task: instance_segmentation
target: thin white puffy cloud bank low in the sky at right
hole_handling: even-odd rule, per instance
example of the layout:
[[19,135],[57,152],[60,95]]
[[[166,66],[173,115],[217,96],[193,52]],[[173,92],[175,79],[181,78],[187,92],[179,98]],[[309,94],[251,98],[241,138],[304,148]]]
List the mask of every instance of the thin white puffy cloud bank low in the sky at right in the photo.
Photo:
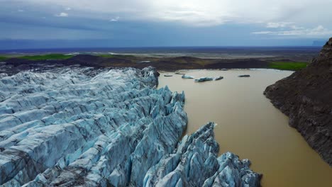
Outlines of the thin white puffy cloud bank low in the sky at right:
[[323,26],[317,26],[315,28],[304,28],[291,26],[288,30],[267,30],[253,32],[255,35],[280,35],[280,36],[293,36],[293,37],[329,37],[332,35],[332,30],[328,30]]

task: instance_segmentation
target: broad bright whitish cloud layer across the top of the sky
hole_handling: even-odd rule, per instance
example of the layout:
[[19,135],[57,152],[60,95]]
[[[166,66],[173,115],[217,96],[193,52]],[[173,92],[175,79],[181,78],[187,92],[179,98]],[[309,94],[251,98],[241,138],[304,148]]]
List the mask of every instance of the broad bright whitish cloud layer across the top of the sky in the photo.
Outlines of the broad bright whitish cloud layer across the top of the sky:
[[[332,1],[327,0],[13,0],[37,6],[70,7],[82,16],[126,15],[126,20],[175,22],[190,26],[223,23],[267,23],[282,28],[287,22],[328,25]],[[131,5],[131,6],[128,6]],[[323,13],[321,13],[323,12]],[[278,24],[276,24],[278,23]]]

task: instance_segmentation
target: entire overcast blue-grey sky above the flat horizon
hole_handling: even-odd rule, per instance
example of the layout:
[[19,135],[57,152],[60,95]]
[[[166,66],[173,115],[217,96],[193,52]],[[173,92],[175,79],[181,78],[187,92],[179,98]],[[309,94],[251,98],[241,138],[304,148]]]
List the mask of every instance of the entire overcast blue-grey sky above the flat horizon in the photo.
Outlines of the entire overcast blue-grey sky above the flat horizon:
[[0,0],[0,49],[311,45],[331,0]]

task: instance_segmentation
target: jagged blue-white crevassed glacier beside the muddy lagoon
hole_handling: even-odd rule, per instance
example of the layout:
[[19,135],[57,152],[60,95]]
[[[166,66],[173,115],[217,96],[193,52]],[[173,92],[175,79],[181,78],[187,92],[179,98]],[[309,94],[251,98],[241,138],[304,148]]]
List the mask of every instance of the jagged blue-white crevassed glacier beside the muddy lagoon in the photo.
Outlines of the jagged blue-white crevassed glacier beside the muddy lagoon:
[[0,75],[1,186],[260,186],[214,123],[184,135],[184,93],[153,67]]

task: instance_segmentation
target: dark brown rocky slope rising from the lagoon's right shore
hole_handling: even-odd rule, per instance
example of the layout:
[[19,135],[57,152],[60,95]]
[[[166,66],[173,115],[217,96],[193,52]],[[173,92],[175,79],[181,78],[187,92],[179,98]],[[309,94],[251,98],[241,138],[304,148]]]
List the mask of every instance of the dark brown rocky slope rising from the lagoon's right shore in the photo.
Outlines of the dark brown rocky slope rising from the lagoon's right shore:
[[332,38],[308,67],[268,86],[264,94],[332,166]]

